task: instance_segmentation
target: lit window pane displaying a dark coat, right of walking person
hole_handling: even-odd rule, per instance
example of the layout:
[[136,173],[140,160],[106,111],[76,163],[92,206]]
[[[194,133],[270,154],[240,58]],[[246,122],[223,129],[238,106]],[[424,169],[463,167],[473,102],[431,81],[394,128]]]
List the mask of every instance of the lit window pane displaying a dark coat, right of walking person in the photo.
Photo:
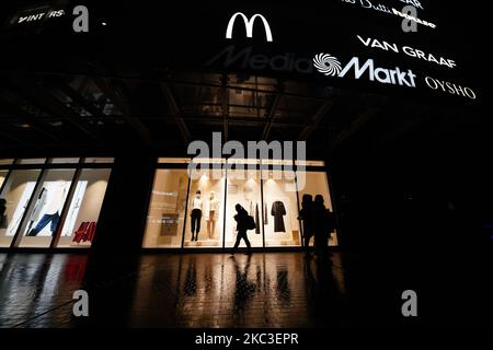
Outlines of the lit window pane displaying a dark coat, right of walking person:
[[300,246],[298,201],[291,171],[263,170],[265,246]]

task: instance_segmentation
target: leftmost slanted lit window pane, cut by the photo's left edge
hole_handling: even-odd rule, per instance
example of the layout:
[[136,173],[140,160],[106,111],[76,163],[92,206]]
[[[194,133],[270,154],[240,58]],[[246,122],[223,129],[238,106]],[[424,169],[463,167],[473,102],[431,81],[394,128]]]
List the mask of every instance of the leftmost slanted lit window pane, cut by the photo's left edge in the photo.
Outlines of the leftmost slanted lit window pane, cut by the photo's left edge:
[[33,195],[39,170],[12,171],[3,186],[4,214],[0,224],[0,247],[9,247],[18,232],[24,212]]

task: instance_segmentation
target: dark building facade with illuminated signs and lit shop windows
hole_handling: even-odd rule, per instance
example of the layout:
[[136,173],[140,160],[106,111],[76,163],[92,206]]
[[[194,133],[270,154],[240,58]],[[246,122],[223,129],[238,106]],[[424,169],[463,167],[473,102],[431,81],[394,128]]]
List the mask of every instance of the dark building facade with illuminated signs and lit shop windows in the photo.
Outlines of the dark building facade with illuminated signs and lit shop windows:
[[415,282],[429,305],[445,293],[446,315],[451,295],[477,293],[450,267],[483,281],[492,262],[478,12],[1,3],[0,249],[87,253],[104,261],[88,269],[98,281],[142,253],[225,252],[241,203],[255,250],[300,250],[302,196],[321,195],[329,245],[357,255],[359,276]]

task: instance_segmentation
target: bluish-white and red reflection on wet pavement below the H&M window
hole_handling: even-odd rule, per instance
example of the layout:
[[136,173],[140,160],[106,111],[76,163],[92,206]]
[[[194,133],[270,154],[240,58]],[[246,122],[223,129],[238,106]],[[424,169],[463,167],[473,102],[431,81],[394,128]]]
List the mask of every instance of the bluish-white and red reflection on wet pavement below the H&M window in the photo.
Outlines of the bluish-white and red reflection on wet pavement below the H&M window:
[[0,255],[0,327],[70,327],[84,255]]

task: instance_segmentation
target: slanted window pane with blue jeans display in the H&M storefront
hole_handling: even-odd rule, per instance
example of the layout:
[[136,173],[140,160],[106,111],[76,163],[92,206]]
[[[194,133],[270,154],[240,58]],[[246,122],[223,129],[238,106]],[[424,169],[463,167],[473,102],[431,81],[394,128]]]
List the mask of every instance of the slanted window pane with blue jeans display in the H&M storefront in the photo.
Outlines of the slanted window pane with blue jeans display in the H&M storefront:
[[21,247],[49,247],[76,170],[46,171],[21,226]]

